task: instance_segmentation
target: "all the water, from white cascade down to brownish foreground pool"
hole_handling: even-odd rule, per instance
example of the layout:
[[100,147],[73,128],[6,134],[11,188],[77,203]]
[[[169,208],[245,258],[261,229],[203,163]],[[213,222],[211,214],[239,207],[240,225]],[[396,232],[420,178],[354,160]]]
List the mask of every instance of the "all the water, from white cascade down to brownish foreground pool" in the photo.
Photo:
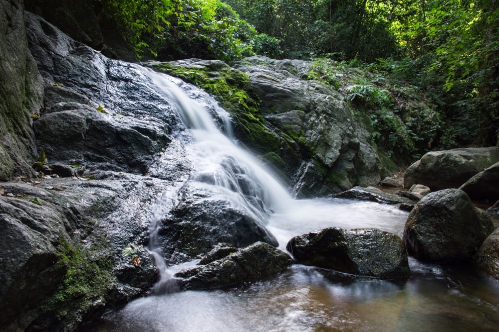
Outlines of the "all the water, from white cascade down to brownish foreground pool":
[[[293,200],[257,158],[235,143],[227,112],[216,103],[197,103],[191,97],[201,92],[181,81],[146,73],[175,102],[192,133],[188,150],[196,170],[187,181],[233,195],[249,213],[267,223],[280,249],[285,250],[292,236],[329,226],[373,227],[401,236],[408,214],[392,206],[338,199]],[[231,167],[227,167],[228,160]],[[158,223],[175,205],[182,185],[163,194],[151,224],[149,249],[162,273],[158,284],[197,263],[167,267],[157,250]],[[235,288],[149,295],[106,315],[88,330],[497,331],[497,281],[471,266],[422,264],[410,258],[410,267],[408,280],[384,281],[294,265],[274,278]]]

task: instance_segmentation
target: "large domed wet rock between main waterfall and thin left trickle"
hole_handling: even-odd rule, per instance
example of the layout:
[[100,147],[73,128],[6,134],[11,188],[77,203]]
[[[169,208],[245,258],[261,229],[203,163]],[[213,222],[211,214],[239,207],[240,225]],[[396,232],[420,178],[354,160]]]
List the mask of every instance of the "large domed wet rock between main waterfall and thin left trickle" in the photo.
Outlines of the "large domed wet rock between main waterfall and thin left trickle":
[[239,202],[234,192],[188,184],[179,204],[161,222],[159,237],[166,261],[178,264],[196,259],[219,242],[244,247],[263,241],[277,246],[260,213]]

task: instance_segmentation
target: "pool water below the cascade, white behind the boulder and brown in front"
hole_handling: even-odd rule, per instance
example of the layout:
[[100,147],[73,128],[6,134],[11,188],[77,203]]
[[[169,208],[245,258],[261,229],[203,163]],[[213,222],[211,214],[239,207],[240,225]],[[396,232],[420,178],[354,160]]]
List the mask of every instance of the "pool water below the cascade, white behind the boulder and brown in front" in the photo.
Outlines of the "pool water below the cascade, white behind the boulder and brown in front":
[[[387,205],[299,202],[296,209],[269,221],[281,248],[292,233],[327,226],[375,227],[400,235],[407,218],[407,213]],[[87,331],[499,330],[498,281],[471,265],[423,264],[411,258],[410,267],[409,279],[394,282],[294,265],[275,278],[237,288],[144,297]]]

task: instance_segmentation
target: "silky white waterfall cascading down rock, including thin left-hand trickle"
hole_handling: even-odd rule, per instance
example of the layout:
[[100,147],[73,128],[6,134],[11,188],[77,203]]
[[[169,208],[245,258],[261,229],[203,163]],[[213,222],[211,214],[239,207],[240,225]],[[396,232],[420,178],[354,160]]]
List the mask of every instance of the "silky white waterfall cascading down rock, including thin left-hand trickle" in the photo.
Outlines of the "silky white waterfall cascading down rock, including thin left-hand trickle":
[[[156,85],[158,92],[172,102],[192,134],[193,142],[186,148],[195,172],[186,182],[212,186],[218,194],[241,203],[259,220],[266,221],[271,213],[282,212],[290,206],[292,199],[282,185],[257,158],[237,145],[229,114],[213,98],[179,79],[147,68],[140,70]],[[183,185],[185,182],[162,195],[150,226],[149,250],[161,273],[156,287],[162,287],[162,291],[171,276],[165,272],[157,234],[160,221],[175,207]]]

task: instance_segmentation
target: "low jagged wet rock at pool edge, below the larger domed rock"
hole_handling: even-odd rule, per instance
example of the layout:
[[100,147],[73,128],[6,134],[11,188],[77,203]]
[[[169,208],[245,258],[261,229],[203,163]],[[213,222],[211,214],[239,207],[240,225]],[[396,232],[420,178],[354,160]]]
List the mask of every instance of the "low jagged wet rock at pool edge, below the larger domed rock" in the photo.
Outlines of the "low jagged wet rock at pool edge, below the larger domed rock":
[[183,270],[175,275],[183,290],[213,289],[261,280],[293,263],[285,252],[268,243],[256,242],[207,265]]

